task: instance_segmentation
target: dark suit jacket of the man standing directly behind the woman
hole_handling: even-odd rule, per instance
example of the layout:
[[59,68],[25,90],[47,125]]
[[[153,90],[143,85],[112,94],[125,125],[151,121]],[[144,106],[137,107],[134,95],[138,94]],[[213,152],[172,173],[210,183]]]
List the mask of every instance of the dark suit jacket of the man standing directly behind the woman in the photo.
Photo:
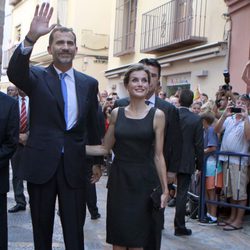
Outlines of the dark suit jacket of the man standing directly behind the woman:
[[[115,107],[124,107],[129,104],[129,98],[116,100]],[[176,172],[181,159],[181,131],[178,110],[170,103],[156,97],[155,107],[165,114],[165,140],[163,154],[169,172]]]

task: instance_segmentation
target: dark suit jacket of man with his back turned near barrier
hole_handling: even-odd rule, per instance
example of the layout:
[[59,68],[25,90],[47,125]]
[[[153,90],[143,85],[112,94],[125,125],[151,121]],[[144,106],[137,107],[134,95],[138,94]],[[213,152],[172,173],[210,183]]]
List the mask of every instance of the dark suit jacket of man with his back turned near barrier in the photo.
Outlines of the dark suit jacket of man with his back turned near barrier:
[[203,126],[201,118],[189,111],[188,108],[180,108],[180,125],[182,132],[182,155],[178,173],[193,174],[195,168],[203,166]]

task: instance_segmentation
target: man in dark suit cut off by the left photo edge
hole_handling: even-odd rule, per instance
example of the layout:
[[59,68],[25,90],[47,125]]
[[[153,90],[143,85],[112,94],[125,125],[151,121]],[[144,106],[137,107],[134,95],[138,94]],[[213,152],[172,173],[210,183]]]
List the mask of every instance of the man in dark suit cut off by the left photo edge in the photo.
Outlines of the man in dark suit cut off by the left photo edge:
[[8,249],[7,192],[9,191],[9,160],[18,143],[18,103],[0,92],[0,249]]

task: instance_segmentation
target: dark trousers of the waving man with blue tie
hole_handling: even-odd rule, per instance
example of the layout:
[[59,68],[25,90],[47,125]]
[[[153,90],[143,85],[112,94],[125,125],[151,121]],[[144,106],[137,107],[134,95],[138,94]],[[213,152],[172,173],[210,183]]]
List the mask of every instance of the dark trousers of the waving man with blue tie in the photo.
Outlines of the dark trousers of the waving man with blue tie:
[[27,183],[35,250],[52,250],[55,203],[58,197],[66,250],[84,250],[85,189],[71,188],[65,179],[63,157],[45,184]]

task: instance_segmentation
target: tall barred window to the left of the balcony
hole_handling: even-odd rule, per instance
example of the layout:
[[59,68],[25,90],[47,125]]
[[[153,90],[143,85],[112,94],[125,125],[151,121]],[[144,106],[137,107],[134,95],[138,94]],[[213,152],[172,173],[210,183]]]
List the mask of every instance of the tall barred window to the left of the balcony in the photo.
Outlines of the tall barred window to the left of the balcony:
[[114,56],[134,52],[137,0],[117,0]]

